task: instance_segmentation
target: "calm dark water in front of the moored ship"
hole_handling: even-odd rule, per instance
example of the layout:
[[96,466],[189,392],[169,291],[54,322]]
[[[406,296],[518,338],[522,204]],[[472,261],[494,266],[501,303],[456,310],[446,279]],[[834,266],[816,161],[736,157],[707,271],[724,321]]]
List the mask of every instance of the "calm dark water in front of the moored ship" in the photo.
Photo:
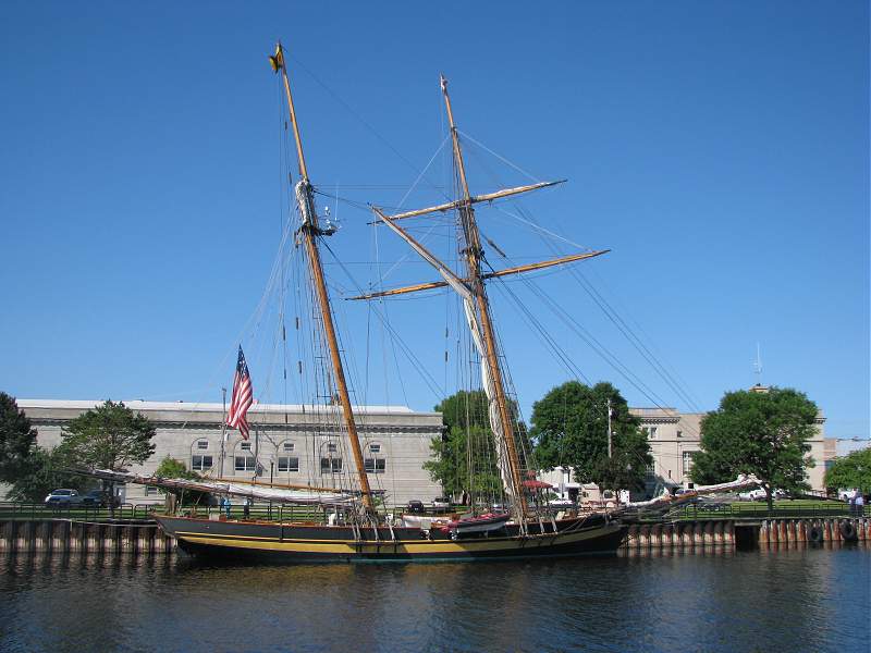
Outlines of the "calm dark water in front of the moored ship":
[[212,567],[0,557],[2,651],[871,650],[871,550]]

